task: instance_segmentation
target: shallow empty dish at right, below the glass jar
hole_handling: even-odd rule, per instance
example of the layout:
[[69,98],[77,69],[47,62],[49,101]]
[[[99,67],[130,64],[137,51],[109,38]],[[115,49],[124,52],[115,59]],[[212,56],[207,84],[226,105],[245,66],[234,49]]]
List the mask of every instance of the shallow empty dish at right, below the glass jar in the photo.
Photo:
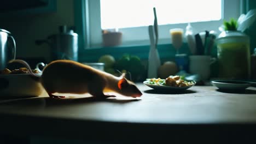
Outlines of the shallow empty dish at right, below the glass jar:
[[241,90],[251,86],[251,83],[246,81],[235,81],[235,80],[214,80],[212,81],[212,85],[219,89]]

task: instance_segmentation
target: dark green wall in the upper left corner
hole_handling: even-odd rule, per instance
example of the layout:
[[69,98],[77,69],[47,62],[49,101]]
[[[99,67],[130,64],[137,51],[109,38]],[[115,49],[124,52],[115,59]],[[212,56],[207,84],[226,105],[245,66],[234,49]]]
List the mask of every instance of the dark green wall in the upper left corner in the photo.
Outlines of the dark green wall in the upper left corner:
[[50,47],[38,46],[34,41],[59,33],[61,25],[74,26],[73,3],[73,0],[56,0],[56,10],[50,13],[0,14],[0,28],[10,31],[16,40],[17,57],[43,57],[49,61]]

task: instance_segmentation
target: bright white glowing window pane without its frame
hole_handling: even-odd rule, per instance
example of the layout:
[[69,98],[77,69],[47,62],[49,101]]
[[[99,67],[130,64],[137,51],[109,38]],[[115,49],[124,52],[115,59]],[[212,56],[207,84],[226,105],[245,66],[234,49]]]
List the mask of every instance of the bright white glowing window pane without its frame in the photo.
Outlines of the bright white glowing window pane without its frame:
[[101,28],[153,25],[156,8],[159,25],[218,21],[222,0],[101,0]]

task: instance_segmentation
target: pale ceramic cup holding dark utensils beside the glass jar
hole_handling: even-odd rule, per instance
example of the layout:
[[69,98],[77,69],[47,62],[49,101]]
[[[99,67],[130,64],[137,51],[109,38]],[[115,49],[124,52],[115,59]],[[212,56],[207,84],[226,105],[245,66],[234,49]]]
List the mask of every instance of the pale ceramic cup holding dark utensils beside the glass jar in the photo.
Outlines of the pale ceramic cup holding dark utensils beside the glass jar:
[[210,66],[216,61],[216,58],[211,56],[189,56],[189,72],[191,74],[198,74],[202,80],[210,78]]

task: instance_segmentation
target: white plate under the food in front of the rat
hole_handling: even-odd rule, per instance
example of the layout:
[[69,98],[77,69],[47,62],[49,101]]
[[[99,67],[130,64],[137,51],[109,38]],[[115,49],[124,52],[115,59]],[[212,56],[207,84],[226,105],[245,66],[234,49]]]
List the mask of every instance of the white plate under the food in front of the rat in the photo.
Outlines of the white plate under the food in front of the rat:
[[147,83],[147,81],[144,81],[143,83],[144,83],[144,85],[146,85],[148,87],[151,87],[153,89],[168,90],[168,91],[182,91],[182,90],[188,89],[188,88],[190,88],[190,87],[195,85],[195,82],[194,82],[194,85],[189,85],[189,86],[185,86],[185,87],[172,87],[172,86],[152,85],[152,84]]

